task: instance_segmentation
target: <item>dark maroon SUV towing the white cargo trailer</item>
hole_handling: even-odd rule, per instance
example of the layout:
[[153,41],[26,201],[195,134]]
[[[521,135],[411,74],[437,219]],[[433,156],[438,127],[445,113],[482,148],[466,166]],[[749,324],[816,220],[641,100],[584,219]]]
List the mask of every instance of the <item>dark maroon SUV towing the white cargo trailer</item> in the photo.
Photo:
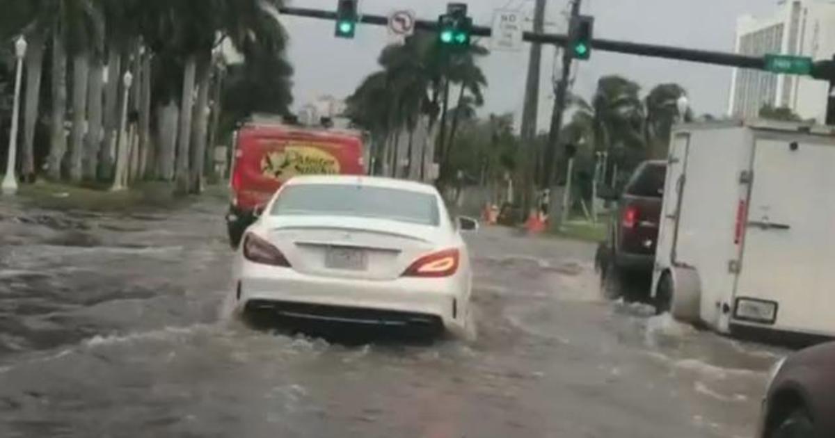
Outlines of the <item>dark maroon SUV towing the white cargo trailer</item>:
[[601,198],[617,203],[596,256],[600,279],[610,298],[620,295],[626,275],[651,278],[665,177],[665,161],[645,161],[622,193],[601,194]]

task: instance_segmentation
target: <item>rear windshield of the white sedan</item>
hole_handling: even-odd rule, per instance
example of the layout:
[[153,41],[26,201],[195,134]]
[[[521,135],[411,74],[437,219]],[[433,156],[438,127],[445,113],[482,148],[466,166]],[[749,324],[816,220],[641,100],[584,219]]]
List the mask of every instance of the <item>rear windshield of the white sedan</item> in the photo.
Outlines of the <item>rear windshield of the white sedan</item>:
[[281,191],[271,214],[389,219],[438,226],[433,194],[356,184],[301,184]]

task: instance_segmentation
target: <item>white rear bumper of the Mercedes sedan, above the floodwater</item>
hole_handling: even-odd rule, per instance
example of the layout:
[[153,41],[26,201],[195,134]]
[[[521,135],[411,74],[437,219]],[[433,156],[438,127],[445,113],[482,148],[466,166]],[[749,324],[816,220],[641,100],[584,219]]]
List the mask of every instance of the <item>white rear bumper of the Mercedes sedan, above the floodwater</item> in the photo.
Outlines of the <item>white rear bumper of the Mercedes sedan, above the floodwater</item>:
[[[277,268],[241,262],[240,298],[237,308],[283,306],[289,313],[304,318],[321,315],[357,323],[380,320],[438,320],[447,329],[463,327],[468,310],[468,291],[455,277],[448,279],[394,280],[340,279],[301,274],[289,268]],[[388,312],[384,315],[381,312]],[[291,315],[292,316],[292,315]]]

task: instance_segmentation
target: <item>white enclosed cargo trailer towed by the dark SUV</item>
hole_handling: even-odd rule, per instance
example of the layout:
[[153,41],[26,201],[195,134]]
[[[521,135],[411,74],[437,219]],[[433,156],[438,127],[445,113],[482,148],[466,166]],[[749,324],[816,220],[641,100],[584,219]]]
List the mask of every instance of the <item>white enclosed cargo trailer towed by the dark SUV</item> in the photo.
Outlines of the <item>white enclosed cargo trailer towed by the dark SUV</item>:
[[835,130],[684,124],[668,162],[660,308],[722,333],[835,335]]

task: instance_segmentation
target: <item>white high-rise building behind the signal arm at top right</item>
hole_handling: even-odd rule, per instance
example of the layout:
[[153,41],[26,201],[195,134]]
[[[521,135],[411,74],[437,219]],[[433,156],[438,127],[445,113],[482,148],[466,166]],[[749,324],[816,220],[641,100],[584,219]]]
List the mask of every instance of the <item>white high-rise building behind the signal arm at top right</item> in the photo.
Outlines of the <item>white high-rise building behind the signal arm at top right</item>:
[[[771,17],[738,18],[736,53],[831,59],[835,55],[835,1],[782,0]],[[814,118],[822,123],[826,118],[828,93],[829,84],[825,81],[735,68],[728,114],[756,118],[760,108],[768,105],[791,108],[802,118]]]

